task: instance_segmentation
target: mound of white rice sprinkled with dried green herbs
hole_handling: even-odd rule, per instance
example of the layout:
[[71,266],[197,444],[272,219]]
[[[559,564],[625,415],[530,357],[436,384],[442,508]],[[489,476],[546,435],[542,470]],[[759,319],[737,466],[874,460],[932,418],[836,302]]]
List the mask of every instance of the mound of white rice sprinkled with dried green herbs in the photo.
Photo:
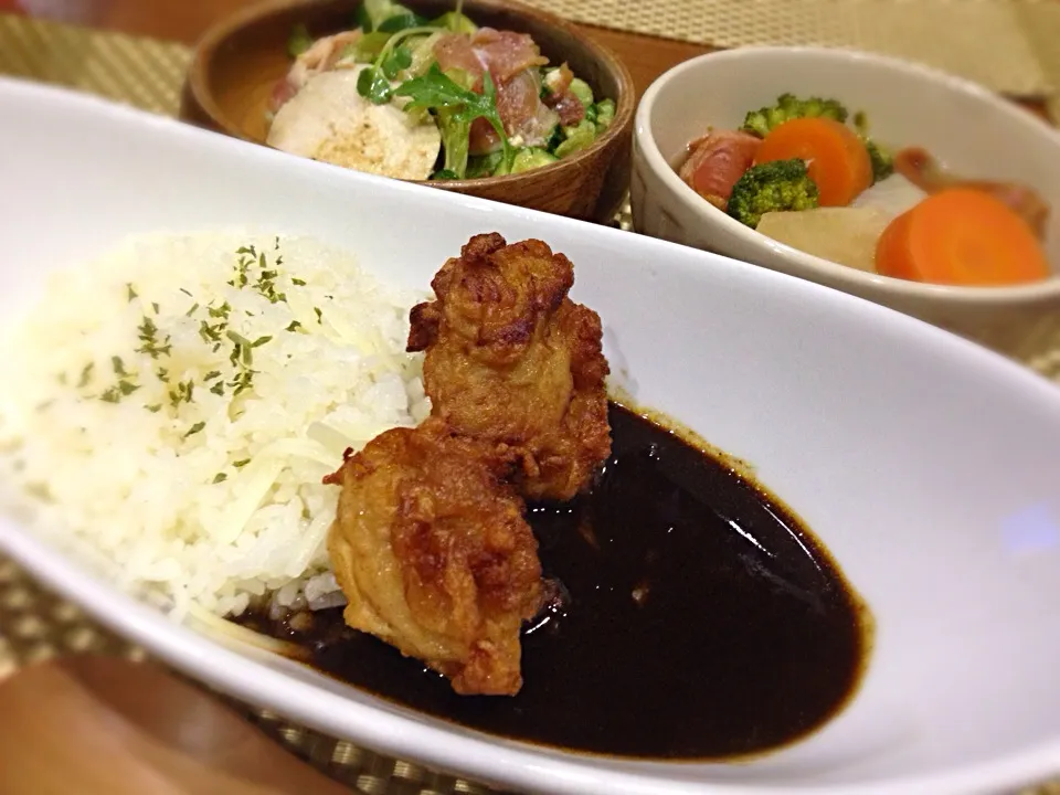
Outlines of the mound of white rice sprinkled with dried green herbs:
[[417,298],[309,240],[130,240],[4,329],[0,478],[178,616],[272,591],[341,602],[324,545],[338,488],[321,478],[428,412],[404,352]]

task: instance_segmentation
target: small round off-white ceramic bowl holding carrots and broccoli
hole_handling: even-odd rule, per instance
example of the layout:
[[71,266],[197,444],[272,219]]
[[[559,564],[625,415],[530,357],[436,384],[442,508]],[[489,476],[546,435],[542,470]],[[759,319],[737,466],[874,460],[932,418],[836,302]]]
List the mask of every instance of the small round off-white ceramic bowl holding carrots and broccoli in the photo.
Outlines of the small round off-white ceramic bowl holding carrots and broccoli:
[[736,128],[780,94],[865,110],[872,136],[922,146],[955,172],[1032,186],[1053,208],[1060,269],[1060,132],[985,88],[892,59],[842,50],[749,47],[687,61],[645,93],[634,128],[633,218],[640,232],[828,285],[979,339],[1060,309],[1060,277],[1018,287],[948,287],[867,274],[777,243],[711,206],[672,166],[709,127]]

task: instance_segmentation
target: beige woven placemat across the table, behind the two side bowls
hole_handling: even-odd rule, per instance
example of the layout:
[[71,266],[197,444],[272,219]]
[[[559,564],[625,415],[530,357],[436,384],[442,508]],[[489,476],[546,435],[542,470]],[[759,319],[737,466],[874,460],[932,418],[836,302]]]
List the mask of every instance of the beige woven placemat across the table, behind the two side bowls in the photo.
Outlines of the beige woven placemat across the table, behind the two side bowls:
[[718,47],[818,44],[919,61],[1017,96],[1049,96],[1060,28],[1031,41],[1018,7],[1057,0],[528,0],[585,24]]

